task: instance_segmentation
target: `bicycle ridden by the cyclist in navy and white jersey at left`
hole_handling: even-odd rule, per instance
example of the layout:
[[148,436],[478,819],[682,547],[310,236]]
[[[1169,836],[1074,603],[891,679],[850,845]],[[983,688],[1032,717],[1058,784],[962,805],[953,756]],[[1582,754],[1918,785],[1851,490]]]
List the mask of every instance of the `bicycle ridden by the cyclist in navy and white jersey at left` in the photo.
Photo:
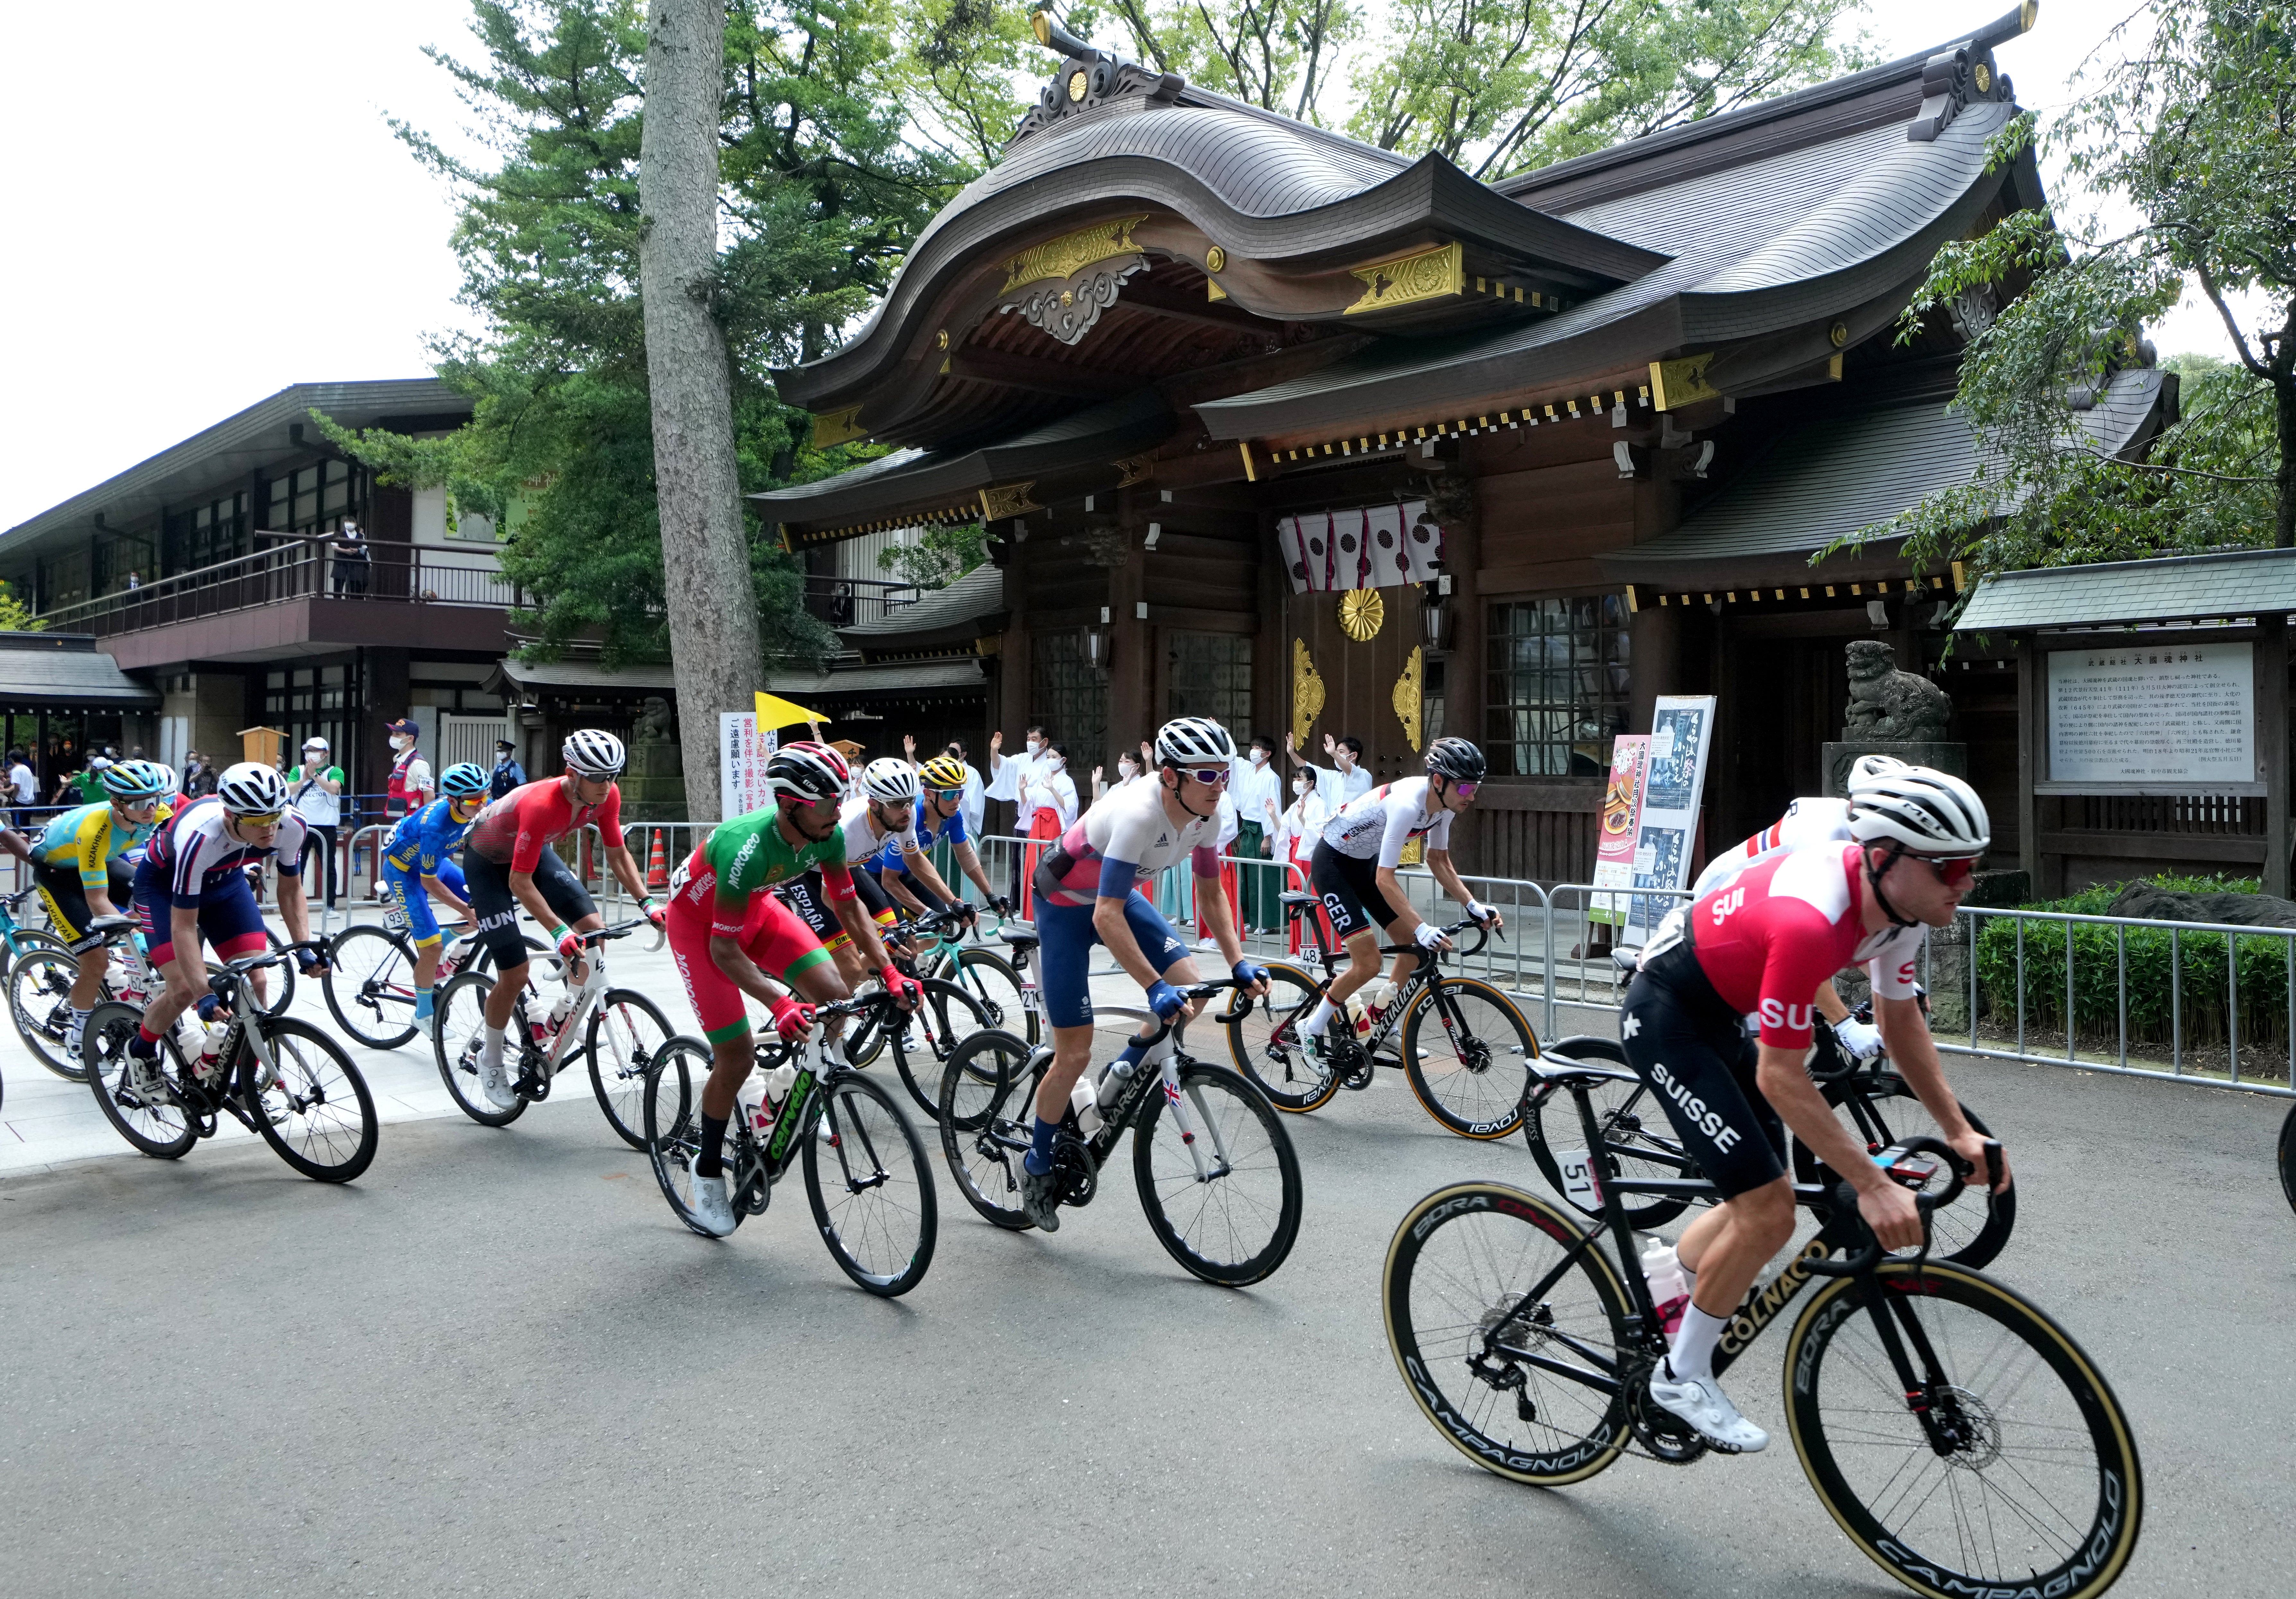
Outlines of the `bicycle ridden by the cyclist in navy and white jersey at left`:
[[[124,937],[129,924],[119,919],[108,933]],[[232,1117],[315,1181],[349,1183],[367,1169],[381,1130],[367,1080],[340,1043],[305,1020],[271,1015],[255,992],[255,972],[305,949],[326,956],[326,942],[310,940],[241,956],[207,979],[214,1020],[227,1022],[211,1052],[204,1029],[174,1027],[156,1061],[138,1061],[129,1041],[142,1006],[113,999],[90,1011],[80,1041],[87,1087],[119,1137],[177,1160]]]

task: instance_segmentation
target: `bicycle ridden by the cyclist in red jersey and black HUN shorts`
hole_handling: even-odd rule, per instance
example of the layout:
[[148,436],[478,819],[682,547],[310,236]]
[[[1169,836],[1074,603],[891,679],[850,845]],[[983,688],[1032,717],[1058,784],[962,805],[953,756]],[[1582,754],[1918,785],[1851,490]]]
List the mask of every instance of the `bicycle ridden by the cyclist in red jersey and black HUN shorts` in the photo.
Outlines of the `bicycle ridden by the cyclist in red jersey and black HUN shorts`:
[[[519,1096],[510,1110],[496,1110],[487,1091],[478,1087],[478,1052],[487,1045],[487,995],[494,992],[494,972],[457,972],[434,1002],[432,1055],[439,1059],[439,1077],[461,1114],[482,1128],[507,1128],[526,1114],[528,1105],[540,1105],[551,1096],[551,1084],[567,1057],[574,1055],[574,1043],[581,1041],[583,1061],[590,1066],[590,1091],[597,1094],[597,1107],[606,1112],[606,1126],[631,1149],[645,1149],[645,1112],[638,1100],[645,1089],[645,1068],[670,1038],[670,1020],[636,988],[606,988],[606,951],[602,947],[650,926],[645,917],[634,917],[611,928],[581,933],[590,970],[581,983],[567,986],[556,1004],[542,999],[537,965],[546,960],[558,981],[567,983],[565,963],[558,956],[526,963],[526,988],[512,1009],[503,1048],[503,1066]],[[657,935],[654,949],[659,947]]]

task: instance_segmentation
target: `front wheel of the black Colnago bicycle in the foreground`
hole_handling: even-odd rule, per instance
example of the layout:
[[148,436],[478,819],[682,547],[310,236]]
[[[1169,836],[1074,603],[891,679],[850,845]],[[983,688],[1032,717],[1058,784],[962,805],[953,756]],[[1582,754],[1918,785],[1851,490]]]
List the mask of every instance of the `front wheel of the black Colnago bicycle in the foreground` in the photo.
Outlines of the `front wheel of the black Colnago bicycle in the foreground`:
[[1917,1594],[2099,1594],[2144,1512],[2112,1388],[2046,1314],[1961,1266],[1828,1282],[1786,1339],[1786,1422],[1841,1530]]

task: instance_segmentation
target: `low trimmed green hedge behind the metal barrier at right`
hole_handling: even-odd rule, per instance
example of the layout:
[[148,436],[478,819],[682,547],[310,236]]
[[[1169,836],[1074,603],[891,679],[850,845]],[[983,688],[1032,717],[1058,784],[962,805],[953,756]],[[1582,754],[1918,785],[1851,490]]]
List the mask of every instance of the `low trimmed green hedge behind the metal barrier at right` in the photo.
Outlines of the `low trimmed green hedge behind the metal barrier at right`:
[[[2255,878],[2151,878],[2163,889],[2186,894],[2257,894]],[[2122,885],[2108,885],[2060,901],[2034,901],[2018,910],[2069,910],[2089,917],[2110,914]],[[2025,928],[2025,1025],[2043,1032],[2064,1029],[2064,926],[1981,919],[1977,935],[1977,983],[1991,1015],[2016,1022],[2016,937]],[[2073,1025],[2082,1038],[2110,1043],[2119,1034],[2119,953],[2126,935],[2128,958],[2128,1041],[2167,1045],[2172,1036],[2170,933],[2167,928],[2112,928],[2073,924]],[[2181,972],[2186,1048],[2223,1048],[2225,1018],[2225,937],[2223,933],[2179,933],[2174,940]],[[2239,1006],[2241,1048],[2273,1048],[2287,1055],[2289,1027],[2289,940],[2287,935],[2239,937]]]

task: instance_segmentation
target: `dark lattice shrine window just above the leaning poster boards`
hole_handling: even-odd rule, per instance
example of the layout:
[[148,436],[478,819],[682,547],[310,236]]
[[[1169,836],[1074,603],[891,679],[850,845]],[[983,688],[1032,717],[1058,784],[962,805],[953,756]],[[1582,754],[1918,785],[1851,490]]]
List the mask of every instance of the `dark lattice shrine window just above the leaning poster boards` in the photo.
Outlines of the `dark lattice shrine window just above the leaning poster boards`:
[[1490,607],[1483,754],[1492,777],[1603,777],[1626,731],[1621,595]]

